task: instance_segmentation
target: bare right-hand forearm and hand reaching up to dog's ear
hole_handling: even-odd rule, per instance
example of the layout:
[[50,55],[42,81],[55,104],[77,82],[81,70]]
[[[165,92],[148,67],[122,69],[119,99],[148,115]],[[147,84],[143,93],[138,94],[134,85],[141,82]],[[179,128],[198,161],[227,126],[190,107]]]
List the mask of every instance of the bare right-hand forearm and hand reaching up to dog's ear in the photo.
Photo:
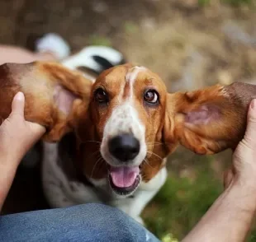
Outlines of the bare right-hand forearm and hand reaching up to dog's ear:
[[183,242],[246,240],[256,212],[256,100],[249,106],[244,139],[225,174],[225,191]]

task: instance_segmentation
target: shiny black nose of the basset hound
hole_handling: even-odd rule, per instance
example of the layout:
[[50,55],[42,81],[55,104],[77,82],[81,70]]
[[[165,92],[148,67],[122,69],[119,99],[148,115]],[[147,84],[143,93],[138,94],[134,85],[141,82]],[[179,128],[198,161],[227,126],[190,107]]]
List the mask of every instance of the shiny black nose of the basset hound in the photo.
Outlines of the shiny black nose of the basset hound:
[[132,134],[121,134],[110,139],[108,149],[119,161],[130,161],[139,154],[140,142]]

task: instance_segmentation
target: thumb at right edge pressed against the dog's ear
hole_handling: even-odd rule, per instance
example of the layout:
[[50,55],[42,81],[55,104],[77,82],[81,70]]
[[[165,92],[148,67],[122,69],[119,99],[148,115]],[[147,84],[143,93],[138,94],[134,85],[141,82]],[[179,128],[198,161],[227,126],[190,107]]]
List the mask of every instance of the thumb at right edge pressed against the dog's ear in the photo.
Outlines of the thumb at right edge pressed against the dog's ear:
[[249,105],[244,142],[249,148],[256,147],[256,99],[252,100]]

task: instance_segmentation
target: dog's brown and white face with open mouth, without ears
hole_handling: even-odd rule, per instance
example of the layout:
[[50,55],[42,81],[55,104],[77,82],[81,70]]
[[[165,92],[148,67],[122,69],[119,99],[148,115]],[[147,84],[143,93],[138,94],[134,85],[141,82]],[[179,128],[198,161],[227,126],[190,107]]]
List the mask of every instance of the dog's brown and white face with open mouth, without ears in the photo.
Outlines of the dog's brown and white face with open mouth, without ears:
[[116,193],[137,188],[150,156],[159,160],[157,166],[163,162],[153,148],[161,139],[166,95],[156,74],[129,64],[104,72],[93,85],[90,112]]

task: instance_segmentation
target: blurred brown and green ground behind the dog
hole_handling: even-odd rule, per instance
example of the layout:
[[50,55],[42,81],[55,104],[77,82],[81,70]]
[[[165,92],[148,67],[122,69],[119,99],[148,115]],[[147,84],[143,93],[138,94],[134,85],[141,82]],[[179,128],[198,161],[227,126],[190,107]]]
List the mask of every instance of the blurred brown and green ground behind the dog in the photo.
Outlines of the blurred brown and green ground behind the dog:
[[[2,0],[1,43],[26,47],[31,36],[56,32],[73,51],[112,46],[159,73],[168,91],[256,84],[255,7],[254,0]],[[182,239],[221,193],[230,158],[230,151],[196,156],[179,148],[145,209],[149,230],[163,241]]]

